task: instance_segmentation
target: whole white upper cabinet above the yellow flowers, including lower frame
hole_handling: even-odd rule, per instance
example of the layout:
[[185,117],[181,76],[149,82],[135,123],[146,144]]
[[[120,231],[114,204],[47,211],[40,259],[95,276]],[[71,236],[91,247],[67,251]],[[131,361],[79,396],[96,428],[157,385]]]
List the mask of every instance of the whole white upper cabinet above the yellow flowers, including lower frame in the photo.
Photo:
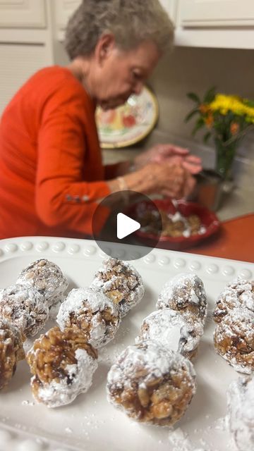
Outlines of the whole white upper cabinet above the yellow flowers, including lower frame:
[[176,45],[254,49],[253,0],[178,0]]

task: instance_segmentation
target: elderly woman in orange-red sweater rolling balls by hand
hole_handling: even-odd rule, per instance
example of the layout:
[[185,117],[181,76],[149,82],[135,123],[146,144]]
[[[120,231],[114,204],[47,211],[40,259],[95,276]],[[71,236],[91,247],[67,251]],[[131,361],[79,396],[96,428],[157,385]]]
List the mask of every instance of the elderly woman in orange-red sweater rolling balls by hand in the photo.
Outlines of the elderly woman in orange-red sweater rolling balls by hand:
[[1,238],[92,235],[98,202],[119,190],[188,194],[200,161],[186,149],[162,145],[103,166],[95,125],[97,105],[141,92],[172,39],[157,0],[83,1],[67,27],[70,65],[33,75],[1,118]]

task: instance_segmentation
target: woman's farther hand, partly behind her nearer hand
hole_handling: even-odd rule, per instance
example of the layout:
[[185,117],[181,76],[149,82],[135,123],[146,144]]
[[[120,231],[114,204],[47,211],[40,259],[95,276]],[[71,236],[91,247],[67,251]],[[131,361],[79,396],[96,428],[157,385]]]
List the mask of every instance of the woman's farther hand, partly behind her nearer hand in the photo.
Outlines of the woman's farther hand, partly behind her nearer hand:
[[133,163],[136,169],[142,168],[147,163],[181,164],[191,174],[197,174],[202,170],[201,159],[191,155],[188,149],[174,146],[174,144],[157,144],[151,149],[135,157]]

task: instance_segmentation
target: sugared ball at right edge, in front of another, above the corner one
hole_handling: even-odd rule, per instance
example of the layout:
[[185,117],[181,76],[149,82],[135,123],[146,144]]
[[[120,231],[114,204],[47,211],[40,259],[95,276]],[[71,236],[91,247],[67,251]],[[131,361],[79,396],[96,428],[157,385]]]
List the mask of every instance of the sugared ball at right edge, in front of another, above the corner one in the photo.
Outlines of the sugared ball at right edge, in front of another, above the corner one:
[[226,315],[214,331],[214,347],[236,371],[254,371],[254,314],[240,307]]

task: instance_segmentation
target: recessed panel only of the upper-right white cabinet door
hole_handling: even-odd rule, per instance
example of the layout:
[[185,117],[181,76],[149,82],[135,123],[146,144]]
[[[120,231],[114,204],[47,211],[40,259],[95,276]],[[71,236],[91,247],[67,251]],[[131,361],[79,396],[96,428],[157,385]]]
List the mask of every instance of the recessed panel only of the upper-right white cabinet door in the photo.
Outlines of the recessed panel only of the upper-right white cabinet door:
[[180,0],[183,27],[254,25],[253,0]]

